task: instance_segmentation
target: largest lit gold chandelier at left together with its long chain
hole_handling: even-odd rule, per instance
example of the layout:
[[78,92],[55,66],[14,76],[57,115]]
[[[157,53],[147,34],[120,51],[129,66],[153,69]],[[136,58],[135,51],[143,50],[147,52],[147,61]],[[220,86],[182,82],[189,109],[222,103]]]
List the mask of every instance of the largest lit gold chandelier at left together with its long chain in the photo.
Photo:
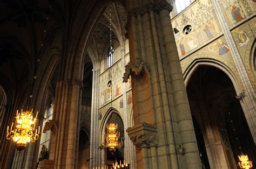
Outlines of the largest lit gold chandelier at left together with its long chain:
[[[40,126],[38,126],[38,131],[36,129],[36,123],[38,121],[37,114],[36,117],[33,118],[33,109],[30,107],[30,103],[32,100],[32,91],[33,87],[35,85],[35,80],[37,79],[37,68],[40,62],[40,56],[41,56],[41,51],[43,47],[43,40],[44,36],[46,34],[45,27],[47,24],[47,21],[49,20],[49,11],[51,8],[51,1],[49,2],[48,6],[48,12],[46,16],[46,22],[44,23],[44,30],[43,30],[43,36],[42,36],[42,41],[41,45],[39,47],[39,52],[37,55],[37,59],[35,58],[35,69],[33,71],[33,80],[32,80],[32,85],[30,86],[30,95],[28,98],[28,107],[26,108],[26,111],[21,110],[21,112],[16,113],[16,122],[11,124],[11,128],[9,129],[9,125],[7,126],[7,131],[6,131],[6,138],[9,140],[14,140],[15,142],[15,147],[18,151],[22,151],[26,148],[26,145],[28,143],[33,143],[39,138],[40,134]],[[15,125],[15,126],[14,126]],[[12,127],[14,126],[14,129]]]

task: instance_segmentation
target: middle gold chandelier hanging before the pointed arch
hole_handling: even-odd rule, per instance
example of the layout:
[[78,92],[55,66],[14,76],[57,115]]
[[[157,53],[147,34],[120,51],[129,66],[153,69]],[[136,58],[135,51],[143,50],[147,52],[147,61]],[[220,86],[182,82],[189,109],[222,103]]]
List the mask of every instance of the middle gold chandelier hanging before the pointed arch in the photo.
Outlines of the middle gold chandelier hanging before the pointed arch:
[[112,153],[116,151],[116,148],[123,146],[123,142],[118,142],[120,138],[120,132],[117,131],[118,125],[110,123],[106,125],[107,133],[105,133],[104,138],[106,140],[106,145],[102,144],[104,149],[108,148]]

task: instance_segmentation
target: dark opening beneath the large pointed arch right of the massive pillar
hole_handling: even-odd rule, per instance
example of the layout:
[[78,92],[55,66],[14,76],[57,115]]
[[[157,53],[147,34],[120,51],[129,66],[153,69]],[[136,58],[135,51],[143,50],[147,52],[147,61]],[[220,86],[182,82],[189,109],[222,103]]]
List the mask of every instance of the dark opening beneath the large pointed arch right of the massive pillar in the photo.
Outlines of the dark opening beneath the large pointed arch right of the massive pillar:
[[[242,129],[234,130],[231,128],[231,120],[226,116],[229,112],[235,112],[235,116],[242,116],[243,124],[247,125],[244,112],[242,112],[239,100],[231,79],[220,69],[213,66],[198,66],[190,76],[187,83],[187,94],[190,102],[192,116],[196,117],[204,137],[207,157],[211,168],[236,168],[237,158],[242,151],[235,149],[235,139],[232,133],[239,131],[238,135],[245,137]],[[241,111],[229,107],[231,100],[238,104]],[[233,119],[233,123],[234,123]],[[248,141],[244,146],[244,152],[250,152],[248,148],[254,148],[253,138],[248,126],[241,125],[244,130],[248,130],[246,138]],[[232,130],[231,130],[232,129]],[[241,139],[241,138],[240,138]],[[202,143],[201,143],[202,144]],[[242,146],[242,145],[240,145]],[[255,150],[253,150],[255,151]],[[250,153],[251,159],[255,157]]]

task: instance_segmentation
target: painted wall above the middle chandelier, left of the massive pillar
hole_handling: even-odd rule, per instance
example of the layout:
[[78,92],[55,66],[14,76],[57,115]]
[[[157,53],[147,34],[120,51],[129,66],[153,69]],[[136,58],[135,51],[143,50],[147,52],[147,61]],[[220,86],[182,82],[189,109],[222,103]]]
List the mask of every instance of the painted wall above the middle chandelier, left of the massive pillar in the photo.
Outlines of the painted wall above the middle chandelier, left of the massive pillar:
[[[128,43],[126,41],[126,43]],[[132,93],[131,93],[131,78],[127,83],[123,83],[123,68],[130,61],[130,55],[127,53],[124,59],[119,59],[111,68],[107,69],[99,75],[99,110],[98,110],[98,126],[104,123],[106,112],[112,107],[118,111],[118,114],[125,119],[124,112],[127,112],[127,120],[130,125],[130,117],[132,110]],[[111,87],[112,84],[112,87]],[[126,89],[124,93],[123,86]],[[112,103],[111,103],[111,88],[112,88]],[[126,95],[126,100],[124,95]]]

